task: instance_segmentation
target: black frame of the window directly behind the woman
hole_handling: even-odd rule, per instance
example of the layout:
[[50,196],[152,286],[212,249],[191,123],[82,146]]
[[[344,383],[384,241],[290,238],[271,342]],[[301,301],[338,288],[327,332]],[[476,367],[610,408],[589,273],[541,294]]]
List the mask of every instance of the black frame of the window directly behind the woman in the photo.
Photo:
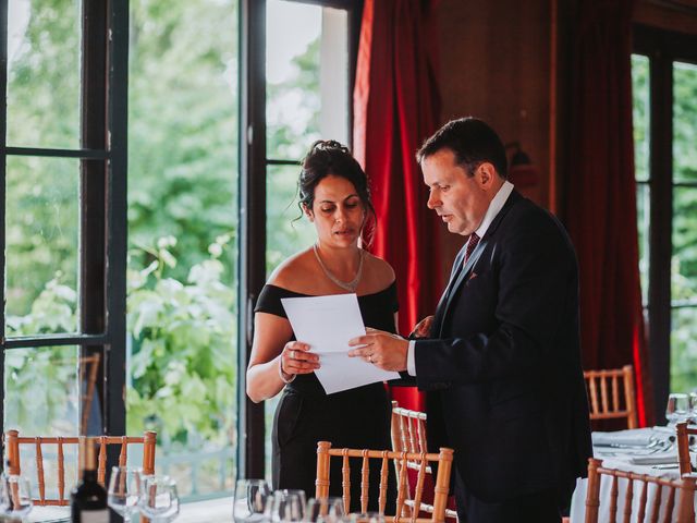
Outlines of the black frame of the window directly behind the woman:
[[[353,99],[363,1],[284,0],[347,11],[348,100]],[[240,257],[237,339],[237,477],[265,476],[265,408],[246,394],[246,368],[254,338],[254,305],[266,282],[266,173],[271,165],[297,165],[267,157],[266,0],[240,0]],[[348,108],[348,125],[353,111]]]

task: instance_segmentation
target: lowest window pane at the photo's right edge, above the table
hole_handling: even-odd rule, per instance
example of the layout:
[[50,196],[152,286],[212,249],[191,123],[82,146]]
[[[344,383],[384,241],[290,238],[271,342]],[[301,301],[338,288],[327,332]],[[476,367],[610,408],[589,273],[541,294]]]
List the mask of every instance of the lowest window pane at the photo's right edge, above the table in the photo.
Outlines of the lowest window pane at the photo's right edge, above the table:
[[671,391],[697,388],[697,307],[674,308],[671,325]]

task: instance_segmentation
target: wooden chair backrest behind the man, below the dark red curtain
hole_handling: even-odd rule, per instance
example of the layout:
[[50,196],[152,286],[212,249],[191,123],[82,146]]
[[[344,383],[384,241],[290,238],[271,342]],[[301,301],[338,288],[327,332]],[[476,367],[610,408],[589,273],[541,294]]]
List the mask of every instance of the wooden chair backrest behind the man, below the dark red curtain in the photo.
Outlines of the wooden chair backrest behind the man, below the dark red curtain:
[[636,428],[636,402],[634,394],[634,369],[622,368],[584,370],[590,419],[626,418],[627,428]]

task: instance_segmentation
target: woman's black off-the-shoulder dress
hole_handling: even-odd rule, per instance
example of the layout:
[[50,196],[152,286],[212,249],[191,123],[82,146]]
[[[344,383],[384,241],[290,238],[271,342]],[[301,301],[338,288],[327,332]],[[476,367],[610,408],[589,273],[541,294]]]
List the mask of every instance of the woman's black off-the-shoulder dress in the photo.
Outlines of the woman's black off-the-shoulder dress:
[[[255,312],[286,317],[282,297],[306,296],[267,284],[259,294]],[[366,327],[394,332],[398,311],[396,284],[358,296]],[[371,384],[333,394],[325,393],[315,374],[301,374],[283,389],[273,418],[273,488],[302,488],[315,497],[317,441],[333,448],[390,449],[391,403],[383,384]],[[380,460],[371,460],[370,510],[377,510]],[[375,466],[372,466],[375,465]],[[360,459],[351,462],[352,512],[359,510]],[[341,496],[341,459],[332,459],[330,496]],[[393,467],[388,508],[394,502]],[[375,501],[375,504],[374,504]]]

